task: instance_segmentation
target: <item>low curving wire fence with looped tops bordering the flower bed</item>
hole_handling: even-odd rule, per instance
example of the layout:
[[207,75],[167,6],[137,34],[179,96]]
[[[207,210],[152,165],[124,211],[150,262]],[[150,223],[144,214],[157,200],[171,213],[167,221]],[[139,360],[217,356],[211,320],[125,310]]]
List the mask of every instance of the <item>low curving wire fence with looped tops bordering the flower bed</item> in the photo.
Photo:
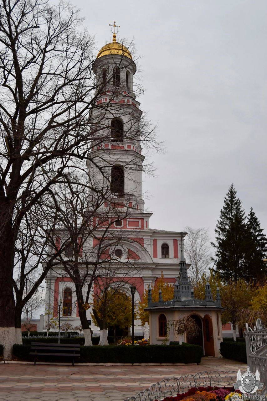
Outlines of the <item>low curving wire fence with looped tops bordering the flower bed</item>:
[[162,400],[164,397],[184,393],[191,387],[199,386],[232,386],[237,380],[237,372],[200,372],[196,375],[184,375],[164,379],[152,384],[149,389],[141,391],[134,397],[127,398],[125,401],[155,401]]

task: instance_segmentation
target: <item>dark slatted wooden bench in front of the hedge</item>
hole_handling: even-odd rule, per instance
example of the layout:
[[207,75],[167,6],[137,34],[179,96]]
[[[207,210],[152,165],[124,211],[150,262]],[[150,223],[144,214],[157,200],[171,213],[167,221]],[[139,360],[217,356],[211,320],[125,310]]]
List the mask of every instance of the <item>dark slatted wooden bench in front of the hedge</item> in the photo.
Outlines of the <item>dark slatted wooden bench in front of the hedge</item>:
[[34,355],[34,365],[36,365],[37,356],[70,356],[73,358],[74,366],[75,356],[80,356],[80,344],[57,344],[49,342],[32,342],[30,355]]

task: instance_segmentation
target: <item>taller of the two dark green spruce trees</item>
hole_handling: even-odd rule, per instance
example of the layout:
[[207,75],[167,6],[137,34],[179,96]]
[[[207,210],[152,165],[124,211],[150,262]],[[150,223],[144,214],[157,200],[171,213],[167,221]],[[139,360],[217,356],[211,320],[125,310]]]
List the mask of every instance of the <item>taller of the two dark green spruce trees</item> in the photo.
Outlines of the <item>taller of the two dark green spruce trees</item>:
[[234,280],[237,283],[244,277],[246,223],[245,211],[233,184],[225,196],[215,233],[216,243],[211,245],[216,249],[213,259],[216,271],[226,282]]

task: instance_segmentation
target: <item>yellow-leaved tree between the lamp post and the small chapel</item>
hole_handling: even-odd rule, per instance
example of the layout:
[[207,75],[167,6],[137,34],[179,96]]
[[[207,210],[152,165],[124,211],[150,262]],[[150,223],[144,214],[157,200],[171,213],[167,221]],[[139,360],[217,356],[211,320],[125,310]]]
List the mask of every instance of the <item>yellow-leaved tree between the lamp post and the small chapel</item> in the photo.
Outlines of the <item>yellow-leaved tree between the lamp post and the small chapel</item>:
[[[152,302],[157,302],[159,297],[159,290],[162,291],[162,298],[164,301],[170,301],[174,297],[174,284],[166,283],[164,281],[163,271],[161,272],[160,279],[157,280],[156,285],[152,285]],[[141,320],[142,325],[149,322],[149,313],[144,310],[148,307],[148,288],[145,289],[143,301],[138,303],[138,318]]]

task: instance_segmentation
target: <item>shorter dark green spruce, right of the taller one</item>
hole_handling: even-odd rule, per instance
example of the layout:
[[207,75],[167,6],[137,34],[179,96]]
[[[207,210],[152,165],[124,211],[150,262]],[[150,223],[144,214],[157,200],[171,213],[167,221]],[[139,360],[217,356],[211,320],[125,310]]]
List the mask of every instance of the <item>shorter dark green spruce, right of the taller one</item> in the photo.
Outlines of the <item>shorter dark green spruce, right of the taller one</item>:
[[262,283],[267,276],[267,239],[263,234],[259,219],[250,209],[246,225],[246,250],[243,260],[243,271],[247,272],[247,281]]

